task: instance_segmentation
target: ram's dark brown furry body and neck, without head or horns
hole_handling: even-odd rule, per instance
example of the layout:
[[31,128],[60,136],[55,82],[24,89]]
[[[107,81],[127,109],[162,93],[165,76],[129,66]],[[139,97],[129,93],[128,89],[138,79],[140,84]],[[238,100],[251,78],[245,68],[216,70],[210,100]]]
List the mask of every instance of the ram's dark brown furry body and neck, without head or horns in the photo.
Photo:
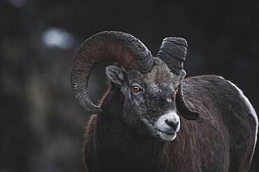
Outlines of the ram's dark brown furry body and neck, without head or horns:
[[[197,111],[200,119],[186,120],[179,114],[181,129],[176,139],[165,141],[148,135],[137,119],[125,121],[125,95],[120,87],[111,84],[102,98],[102,114],[91,116],[87,125],[87,169],[248,171],[258,120],[239,90],[222,77],[204,75],[185,79],[183,92],[188,107]],[[160,102],[152,103],[163,107]],[[129,125],[134,122],[137,125]]]

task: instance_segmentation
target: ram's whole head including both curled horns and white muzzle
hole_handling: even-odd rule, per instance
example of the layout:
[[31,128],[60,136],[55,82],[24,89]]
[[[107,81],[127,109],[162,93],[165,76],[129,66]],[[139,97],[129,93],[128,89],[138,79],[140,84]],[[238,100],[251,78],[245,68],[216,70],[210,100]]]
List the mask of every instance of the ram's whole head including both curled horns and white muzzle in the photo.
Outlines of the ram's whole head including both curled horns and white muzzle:
[[146,46],[130,34],[97,33],[76,53],[71,70],[73,93],[87,111],[101,113],[101,107],[90,100],[90,72],[101,61],[117,61],[123,67],[107,66],[106,76],[124,95],[121,116],[125,124],[139,133],[172,141],[180,129],[177,114],[189,120],[199,117],[183,99],[181,81],[186,76],[183,70],[186,53],[187,42],[183,38],[165,38],[157,57],[153,57]]

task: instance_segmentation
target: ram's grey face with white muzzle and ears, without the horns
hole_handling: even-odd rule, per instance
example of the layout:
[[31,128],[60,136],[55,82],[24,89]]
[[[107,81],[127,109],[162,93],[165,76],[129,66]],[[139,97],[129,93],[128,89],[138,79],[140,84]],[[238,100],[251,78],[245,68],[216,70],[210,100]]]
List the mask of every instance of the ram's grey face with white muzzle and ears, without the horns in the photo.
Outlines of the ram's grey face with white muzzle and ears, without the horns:
[[177,86],[186,75],[184,71],[174,75],[163,61],[155,58],[151,72],[146,74],[137,70],[124,72],[114,66],[106,68],[106,74],[125,96],[123,120],[128,127],[153,138],[167,141],[176,138],[180,118],[175,99]]

